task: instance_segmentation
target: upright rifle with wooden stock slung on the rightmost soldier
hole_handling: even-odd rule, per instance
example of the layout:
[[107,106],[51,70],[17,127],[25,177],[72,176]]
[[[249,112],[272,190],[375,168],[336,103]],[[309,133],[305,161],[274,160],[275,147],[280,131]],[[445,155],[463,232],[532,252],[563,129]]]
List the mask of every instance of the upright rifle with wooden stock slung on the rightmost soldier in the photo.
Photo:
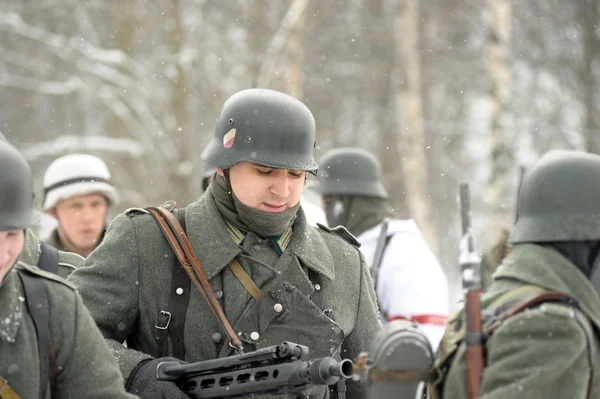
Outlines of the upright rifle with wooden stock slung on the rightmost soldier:
[[465,291],[465,316],[467,333],[465,343],[466,382],[469,399],[475,399],[481,389],[483,370],[485,369],[485,342],[481,323],[481,260],[475,253],[471,231],[471,200],[469,184],[460,184],[460,213],[462,221],[462,240],[460,267],[463,290]]

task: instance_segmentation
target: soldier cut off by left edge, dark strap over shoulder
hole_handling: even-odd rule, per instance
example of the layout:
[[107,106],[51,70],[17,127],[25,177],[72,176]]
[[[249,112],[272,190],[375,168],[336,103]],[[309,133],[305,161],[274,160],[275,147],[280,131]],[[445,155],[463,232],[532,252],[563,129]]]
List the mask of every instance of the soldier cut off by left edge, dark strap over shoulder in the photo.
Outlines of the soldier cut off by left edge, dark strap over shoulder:
[[82,299],[18,261],[38,214],[23,156],[0,140],[0,397],[133,398]]

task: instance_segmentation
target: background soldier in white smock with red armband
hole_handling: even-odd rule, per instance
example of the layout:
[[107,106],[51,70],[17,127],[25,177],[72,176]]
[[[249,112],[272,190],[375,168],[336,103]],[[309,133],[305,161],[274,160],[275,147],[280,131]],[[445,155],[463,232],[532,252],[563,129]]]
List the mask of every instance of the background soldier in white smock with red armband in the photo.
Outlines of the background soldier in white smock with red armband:
[[329,225],[361,243],[386,320],[417,322],[435,350],[449,311],[446,277],[415,221],[399,219],[388,202],[377,158],[360,148],[326,153],[317,190]]

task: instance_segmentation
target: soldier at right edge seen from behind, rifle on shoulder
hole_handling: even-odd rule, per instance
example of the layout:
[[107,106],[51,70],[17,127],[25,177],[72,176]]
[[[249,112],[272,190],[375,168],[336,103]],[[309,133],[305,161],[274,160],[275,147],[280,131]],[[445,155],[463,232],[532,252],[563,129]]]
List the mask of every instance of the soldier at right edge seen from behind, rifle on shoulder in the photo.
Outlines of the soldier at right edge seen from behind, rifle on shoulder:
[[[599,198],[598,155],[551,151],[525,173],[512,251],[481,299],[477,397],[600,397]],[[464,320],[450,322],[436,355],[434,398],[467,397]]]

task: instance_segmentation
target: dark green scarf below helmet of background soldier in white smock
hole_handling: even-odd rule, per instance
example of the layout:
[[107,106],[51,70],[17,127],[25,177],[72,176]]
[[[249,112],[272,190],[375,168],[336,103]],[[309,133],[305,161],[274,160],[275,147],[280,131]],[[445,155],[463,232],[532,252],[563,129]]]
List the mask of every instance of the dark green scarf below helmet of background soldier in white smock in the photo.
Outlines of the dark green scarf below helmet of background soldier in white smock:
[[399,219],[385,199],[354,195],[328,195],[323,199],[327,223],[332,227],[342,225],[355,237],[377,226],[385,218]]

